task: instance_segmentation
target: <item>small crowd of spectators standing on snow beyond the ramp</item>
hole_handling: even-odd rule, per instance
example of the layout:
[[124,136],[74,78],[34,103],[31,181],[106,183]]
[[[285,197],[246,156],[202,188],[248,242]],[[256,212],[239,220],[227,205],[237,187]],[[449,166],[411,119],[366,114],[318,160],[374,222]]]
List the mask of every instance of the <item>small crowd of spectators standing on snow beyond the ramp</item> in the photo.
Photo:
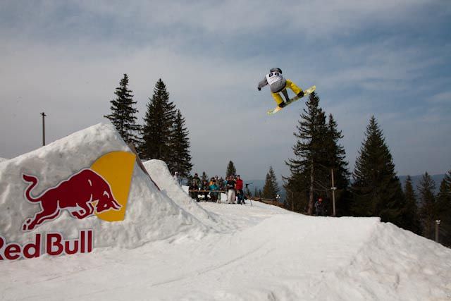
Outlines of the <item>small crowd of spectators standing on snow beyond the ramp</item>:
[[[180,185],[180,176],[177,171],[174,173],[174,179]],[[190,197],[200,202],[221,203],[219,193],[226,192],[228,204],[245,204],[245,192],[243,191],[243,182],[240,175],[228,176],[226,180],[222,177],[214,176],[209,181],[201,180],[197,173],[194,173],[190,181]]]

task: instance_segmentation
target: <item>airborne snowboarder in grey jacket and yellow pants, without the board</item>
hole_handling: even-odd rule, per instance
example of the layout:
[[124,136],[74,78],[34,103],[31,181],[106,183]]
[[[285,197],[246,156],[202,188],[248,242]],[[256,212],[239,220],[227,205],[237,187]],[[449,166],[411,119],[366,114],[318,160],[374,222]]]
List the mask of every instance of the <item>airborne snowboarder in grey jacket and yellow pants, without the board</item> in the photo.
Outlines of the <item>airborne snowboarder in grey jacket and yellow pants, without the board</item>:
[[[269,70],[269,73],[265,75],[264,80],[261,80],[261,82],[259,82],[257,89],[260,91],[261,88],[266,85],[269,85],[269,88],[271,89],[271,95],[276,101],[276,104],[280,106],[280,108],[286,106],[287,102],[290,100],[287,88],[290,88],[292,92],[295,92],[295,94],[299,97],[304,96],[304,92],[301,88],[297,87],[297,85],[295,85],[295,83],[293,83],[288,78],[283,78],[282,70],[280,68],[271,68]],[[280,96],[280,92],[282,92],[283,96],[285,97],[285,102]]]

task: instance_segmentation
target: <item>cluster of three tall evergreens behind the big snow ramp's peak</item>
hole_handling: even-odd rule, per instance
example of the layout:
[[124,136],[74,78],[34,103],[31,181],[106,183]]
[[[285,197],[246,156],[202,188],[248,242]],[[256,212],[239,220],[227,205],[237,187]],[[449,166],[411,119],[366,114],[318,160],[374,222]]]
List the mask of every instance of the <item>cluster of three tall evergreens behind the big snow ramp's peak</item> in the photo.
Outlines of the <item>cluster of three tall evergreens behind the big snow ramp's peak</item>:
[[188,178],[192,168],[190,140],[185,118],[169,100],[166,84],[161,78],[156,82],[154,94],[149,97],[142,125],[137,123],[132,91],[128,89],[128,75],[124,74],[116,87],[116,98],[111,100],[109,115],[123,140],[137,149],[141,159],[165,161],[171,173],[178,171]]

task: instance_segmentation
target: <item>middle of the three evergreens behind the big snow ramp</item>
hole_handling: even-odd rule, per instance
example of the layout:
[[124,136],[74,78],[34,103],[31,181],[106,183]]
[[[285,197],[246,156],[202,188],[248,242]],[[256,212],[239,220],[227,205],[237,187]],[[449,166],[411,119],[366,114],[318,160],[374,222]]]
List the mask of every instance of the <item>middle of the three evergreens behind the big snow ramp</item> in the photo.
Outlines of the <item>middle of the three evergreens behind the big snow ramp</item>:
[[174,171],[172,142],[173,125],[175,123],[175,105],[169,101],[169,93],[161,78],[156,82],[154,95],[149,98],[147,112],[144,116],[143,144],[140,154],[143,159],[160,159]]

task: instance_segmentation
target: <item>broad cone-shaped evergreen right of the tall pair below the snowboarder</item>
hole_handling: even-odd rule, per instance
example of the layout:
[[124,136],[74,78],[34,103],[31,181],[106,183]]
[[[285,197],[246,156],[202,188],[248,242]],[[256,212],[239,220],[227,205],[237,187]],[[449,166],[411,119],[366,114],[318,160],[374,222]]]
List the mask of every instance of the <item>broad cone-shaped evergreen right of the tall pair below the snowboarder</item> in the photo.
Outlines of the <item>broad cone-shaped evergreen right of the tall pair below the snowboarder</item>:
[[380,216],[382,221],[399,226],[403,223],[404,195],[392,155],[374,116],[365,136],[353,173],[352,210],[357,216]]

